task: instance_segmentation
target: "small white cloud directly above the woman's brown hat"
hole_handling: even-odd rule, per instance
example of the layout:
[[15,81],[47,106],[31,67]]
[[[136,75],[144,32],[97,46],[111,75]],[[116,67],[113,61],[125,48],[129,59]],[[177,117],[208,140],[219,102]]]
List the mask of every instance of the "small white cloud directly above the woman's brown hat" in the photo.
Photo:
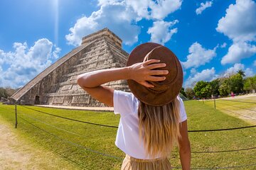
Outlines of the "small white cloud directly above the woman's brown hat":
[[150,41],[164,45],[174,33],[178,32],[178,28],[170,29],[176,23],[178,23],[178,20],[173,22],[154,21],[153,26],[147,31],[147,33],[151,34]]

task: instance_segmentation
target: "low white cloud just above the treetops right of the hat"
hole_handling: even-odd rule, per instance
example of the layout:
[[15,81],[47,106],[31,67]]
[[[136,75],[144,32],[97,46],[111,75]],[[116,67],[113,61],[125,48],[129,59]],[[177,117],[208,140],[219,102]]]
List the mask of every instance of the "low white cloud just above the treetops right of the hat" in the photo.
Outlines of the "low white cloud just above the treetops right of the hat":
[[202,72],[198,72],[194,74],[193,76],[189,76],[188,79],[186,79],[184,86],[194,86],[197,81],[211,81],[214,79],[217,75],[215,75],[215,69],[212,67],[211,69],[203,69]]

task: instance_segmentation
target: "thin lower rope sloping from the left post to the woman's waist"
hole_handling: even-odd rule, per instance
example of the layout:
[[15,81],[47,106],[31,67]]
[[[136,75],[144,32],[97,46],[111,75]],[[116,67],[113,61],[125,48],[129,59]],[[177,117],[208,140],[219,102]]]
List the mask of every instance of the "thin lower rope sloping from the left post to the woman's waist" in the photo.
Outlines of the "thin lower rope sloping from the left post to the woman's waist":
[[[21,118],[21,116],[18,116],[18,118]],[[30,125],[33,125],[33,127],[38,128],[39,130],[41,130],[41,131],[43,131],[43,132],[48,133],[49,135],[52,135],[52,136],[55,137],[55,138],[58,138],[59,140],[63,140],[64,142],[69,143],[70,145],[73,145],[73,146],[75,146],[75,147],[80,147],[80,148],[83,149],[83,150],[87,150],[87,151],[93,152],[93,153],[95,153],[95,154],[101,154],[102,156],[105,156],[105,157],[111,157],[111,158],[114,158],[114,159],[122,159],[122,158],[120,158],[120,157],[115,157],[115,156],[112,156],[112,155],[110,155],[110,154],[105,154],[105,153],[102,153],[102,152],[98,152],[98,151],[96,151],[96,150],[93,150],[93,149],[84,147],[84,146],[79,145],[79,144],[77,144],[77,143],[70,142],[69,140],[66,140],[66,139],[64,139],[64,138],[62,138],[62,137],[59,137],[58,135],[55,135],[55,134],[53,134],[53,133],[51,133],[51,132],[48,132],[47,130],[43,130],[42,128],[39,128],[38,126],[34,125],[33,123],[28,122],[28,120],[25,120],[25,119],[23,119],[23,118],[21,118],[21,120],[25,121],[26,123],[28,123],[28,124],[30,124]]]

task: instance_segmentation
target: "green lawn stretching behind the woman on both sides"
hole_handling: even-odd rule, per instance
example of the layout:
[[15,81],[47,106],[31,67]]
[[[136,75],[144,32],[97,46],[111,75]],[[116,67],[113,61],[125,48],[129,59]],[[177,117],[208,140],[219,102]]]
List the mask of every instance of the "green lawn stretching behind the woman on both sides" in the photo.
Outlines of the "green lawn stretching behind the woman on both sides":
[[[207,104],[199,101],[186,101],[184,103],[188,115],[188,130],[211,130],[251,125],[218,109],[215,110],[211,103]],[[114,145],[117,128],[65,120],[29,108],[66,118],[113,126],[118,125],[119,115],[108,112],[26,107],[28,108],[17,107],[19,116],[18,132],[21,137],[46,148],[49,152],[58,153],[56,157],[63,157],[77,169],[120,168],[124,153]],[[14,125],[14,106],[0,105],[0,117]],[[30,123],[33,123],[33,125]],[[189,137],[192,152],[256,147],[256,128],[217,132],[189,132]],[[171,164],[180,167],[176,151],[177,149],[170,157]],[[249,149],[239,152],[192,153],[191,164],[194,168],[213,169],[215,167],[256,164],[255,160],[256,149]],[[245,166],[240,169],[256,169],[256,166]]]

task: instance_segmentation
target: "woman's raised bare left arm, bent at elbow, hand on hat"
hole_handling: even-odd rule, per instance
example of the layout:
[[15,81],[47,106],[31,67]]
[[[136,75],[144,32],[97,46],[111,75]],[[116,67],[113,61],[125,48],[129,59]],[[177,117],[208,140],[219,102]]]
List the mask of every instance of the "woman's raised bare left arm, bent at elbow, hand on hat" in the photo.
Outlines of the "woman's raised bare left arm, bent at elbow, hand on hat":
[[149,60],[129,67],[87,72],[78,76],[78,85],[97,101],[112,107],[114,89],[101,86],[102,84],[120,79],[133,79],[146,87],[152,87],[153,85],[149,84],[148,81],[163,81],[165,79],[164,76],[155,77],[155,75],[168,74],[167,70],[153,70],[166,67],[166,64],[159,62],[160,60]]

